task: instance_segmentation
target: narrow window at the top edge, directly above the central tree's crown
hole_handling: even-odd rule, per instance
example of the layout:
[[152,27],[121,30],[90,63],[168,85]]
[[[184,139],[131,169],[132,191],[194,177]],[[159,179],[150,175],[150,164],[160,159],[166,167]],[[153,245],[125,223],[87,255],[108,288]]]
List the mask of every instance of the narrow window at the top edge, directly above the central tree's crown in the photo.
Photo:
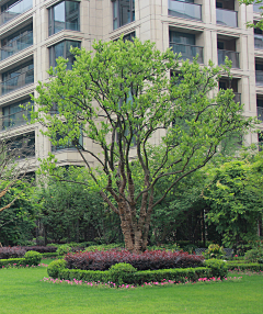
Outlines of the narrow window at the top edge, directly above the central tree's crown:
[[135,0],[112,0],[113,30],[135,21]]

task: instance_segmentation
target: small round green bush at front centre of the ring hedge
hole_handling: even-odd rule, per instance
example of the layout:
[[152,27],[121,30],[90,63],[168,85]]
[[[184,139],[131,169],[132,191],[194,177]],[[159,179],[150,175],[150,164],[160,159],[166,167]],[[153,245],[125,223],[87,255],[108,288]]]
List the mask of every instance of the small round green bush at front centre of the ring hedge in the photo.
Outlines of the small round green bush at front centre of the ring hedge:
[[[113,265],[108,270],[108,281],[116,284],[127,283],[133,278],[133,274],[137,271],[130,263],[119,262]],[[134,280],[133,280],[134,281]]]

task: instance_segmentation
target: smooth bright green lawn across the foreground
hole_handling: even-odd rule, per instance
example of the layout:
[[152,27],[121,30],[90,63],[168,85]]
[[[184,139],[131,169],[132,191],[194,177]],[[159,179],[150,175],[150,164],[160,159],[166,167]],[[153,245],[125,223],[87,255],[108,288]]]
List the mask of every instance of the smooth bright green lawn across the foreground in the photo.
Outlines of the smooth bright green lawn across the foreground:
[[44,277],[41,267],[0,269],[0,313],[263,313],[263,276],[135,290],[50,284]]

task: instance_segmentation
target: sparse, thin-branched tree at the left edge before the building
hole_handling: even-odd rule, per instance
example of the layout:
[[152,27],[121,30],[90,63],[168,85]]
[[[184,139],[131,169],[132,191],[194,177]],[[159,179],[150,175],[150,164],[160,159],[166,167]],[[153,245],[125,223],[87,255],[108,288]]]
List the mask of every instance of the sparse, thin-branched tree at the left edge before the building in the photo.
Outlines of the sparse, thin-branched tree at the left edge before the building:
[[[35,161],[30,158],[35,155],[32,143],[27,135],[15,135],[8,130],[0,136],[0,213],[10,209],[32,183],[27,176]],[[20,188],[16,189],[18,186]],[[4,197],[10,190],[12,193],[9,193],[7,202]]]

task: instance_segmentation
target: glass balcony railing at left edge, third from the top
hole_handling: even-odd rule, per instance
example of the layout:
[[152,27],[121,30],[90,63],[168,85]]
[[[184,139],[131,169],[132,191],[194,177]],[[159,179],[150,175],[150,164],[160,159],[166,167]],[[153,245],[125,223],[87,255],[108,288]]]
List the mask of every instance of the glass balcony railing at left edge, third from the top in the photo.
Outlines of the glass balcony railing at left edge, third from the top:
[[23,72],[21,75],[18,75],[11,79],[3,81],[1,83],[1,91],[2,94],[5,94],[33,82],[34,82],[34,69],[30,69],[26,72]]

